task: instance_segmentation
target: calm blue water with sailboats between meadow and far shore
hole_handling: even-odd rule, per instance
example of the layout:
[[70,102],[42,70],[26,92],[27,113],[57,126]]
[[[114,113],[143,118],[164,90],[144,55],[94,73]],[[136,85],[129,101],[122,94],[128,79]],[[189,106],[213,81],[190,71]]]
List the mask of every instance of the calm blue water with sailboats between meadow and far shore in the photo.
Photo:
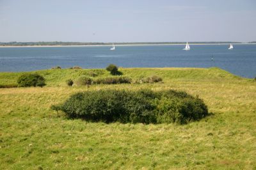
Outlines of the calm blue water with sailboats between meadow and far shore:
[[[217,66],[242,77],[256,76],[256,45],[184,45],[110,47],[15,47],[0,48],[0,72],[68,68]],[[213,61],[211,58],[213,56]]]

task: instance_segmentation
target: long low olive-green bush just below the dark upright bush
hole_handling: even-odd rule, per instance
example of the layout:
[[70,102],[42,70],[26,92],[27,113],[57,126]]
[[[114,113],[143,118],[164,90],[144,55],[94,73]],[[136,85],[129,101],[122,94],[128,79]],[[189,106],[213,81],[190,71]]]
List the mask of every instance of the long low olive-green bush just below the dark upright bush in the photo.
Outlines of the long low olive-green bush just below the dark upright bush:
[[100,79],[95,79],[93,84],[123,84],[131,83],[131,78],[129,77],[105,77]]

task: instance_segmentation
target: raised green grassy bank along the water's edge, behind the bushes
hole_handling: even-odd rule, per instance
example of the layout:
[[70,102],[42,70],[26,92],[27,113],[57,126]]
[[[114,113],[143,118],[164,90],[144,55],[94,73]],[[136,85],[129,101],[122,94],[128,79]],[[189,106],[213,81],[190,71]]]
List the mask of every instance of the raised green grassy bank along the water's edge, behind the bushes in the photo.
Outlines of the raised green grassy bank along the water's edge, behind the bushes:
[[[125,77],[131,77],[132,81],[147,79],[152,75],[161,77],[167,83],[173,81],[227,82],[244,80],[220,68],[120,68],[119,70]],[[104,79],[111,75],[105,69],[49,69],[25,73],[42,75],[45,78],[46,86],[50,87],[67,86],[65,82],[68,79],[77,80],[83,75],[99,79]],[[22,74],[24,72],[1,72],[0,85],[17,84],[17,79]]]

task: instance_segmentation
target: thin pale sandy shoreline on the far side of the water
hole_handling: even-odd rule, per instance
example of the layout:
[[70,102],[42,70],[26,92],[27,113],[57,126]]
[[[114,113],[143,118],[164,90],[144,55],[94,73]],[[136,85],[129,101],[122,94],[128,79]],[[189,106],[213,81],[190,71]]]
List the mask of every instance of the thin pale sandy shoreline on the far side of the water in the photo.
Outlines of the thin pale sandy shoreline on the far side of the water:
[[[189,45],[229,45],[230,43],[189,43]],[[255,45],[256,43],[232,43],[234,45]],[[115,44],[115,46],[156,46],[156,45],[186,45],[185,43],[143,43],[143,44]],[[106,45],[0,45],[0,48],[12,47],[112,47]]]

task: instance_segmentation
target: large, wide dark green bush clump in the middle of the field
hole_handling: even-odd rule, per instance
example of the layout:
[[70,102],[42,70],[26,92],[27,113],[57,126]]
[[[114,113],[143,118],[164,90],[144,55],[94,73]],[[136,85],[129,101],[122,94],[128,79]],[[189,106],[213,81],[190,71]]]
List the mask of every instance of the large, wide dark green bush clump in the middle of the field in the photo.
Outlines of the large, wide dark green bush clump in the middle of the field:
[[[54,107],[52,107],[54,108]],[[58,105],[69,118],[121,123],[189,123],[208,114],[198,98],[180,91],[99,90],[76,93]]]

